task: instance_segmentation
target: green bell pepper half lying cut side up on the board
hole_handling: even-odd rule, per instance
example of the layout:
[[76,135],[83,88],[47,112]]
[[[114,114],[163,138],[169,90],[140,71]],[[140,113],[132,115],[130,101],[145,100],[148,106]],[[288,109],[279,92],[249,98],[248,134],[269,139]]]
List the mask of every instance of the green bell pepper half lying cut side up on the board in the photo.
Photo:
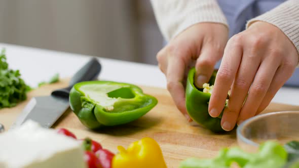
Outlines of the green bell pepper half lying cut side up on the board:
[[133,121],[158,103],[128,83],[84,81],[73,86],[69,94],[70,108],[89,129]]

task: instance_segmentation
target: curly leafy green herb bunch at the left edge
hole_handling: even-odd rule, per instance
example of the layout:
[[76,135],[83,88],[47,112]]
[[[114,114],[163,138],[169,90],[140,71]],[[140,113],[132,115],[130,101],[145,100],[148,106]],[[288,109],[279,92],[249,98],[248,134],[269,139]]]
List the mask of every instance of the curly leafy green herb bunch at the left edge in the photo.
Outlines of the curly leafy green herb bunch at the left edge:
[[0,108],[13,107],[25,100],[29,88],[19,70],[9,69],[3,49],[0,54]]

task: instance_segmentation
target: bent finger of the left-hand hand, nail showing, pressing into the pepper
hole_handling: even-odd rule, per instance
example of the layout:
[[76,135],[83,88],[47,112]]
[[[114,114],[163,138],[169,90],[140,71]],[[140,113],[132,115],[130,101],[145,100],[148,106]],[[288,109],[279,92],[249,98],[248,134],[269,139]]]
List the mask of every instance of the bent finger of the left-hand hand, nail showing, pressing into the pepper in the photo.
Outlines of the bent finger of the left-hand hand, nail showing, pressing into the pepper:
[[204,45],[201,54],[196,61],[196,82],[198,88],[203,88],[203,84],[208,82],[216,62],[222,57],[223,49],[219,46]]

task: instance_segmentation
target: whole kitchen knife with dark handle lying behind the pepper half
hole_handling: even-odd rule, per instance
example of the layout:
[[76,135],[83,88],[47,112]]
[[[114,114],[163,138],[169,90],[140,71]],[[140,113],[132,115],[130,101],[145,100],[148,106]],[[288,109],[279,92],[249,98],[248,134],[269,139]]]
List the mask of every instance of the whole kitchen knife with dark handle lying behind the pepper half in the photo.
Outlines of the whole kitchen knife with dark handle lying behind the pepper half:
[[69,91],[72,86],[81,81],[94,80],[101,71],[101,64],[96,58],[92,58],[69,81],[67,88],[55,90],[50,96],[33,97],[24,110],[10,127],[14,129],[31,119],[38,122],[44,128],[51,128],[57,119],[69,107]]

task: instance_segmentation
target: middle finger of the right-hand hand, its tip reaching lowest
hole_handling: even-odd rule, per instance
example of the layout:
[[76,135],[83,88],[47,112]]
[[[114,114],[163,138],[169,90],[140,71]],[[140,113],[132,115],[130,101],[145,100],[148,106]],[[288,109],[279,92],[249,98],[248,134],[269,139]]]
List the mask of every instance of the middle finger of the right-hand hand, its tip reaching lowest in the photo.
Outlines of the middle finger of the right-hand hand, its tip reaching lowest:
[[231,131],[234,129],[260,61],[261,58],[258,53],[255,52],[253,54],[251,51],[247,52],[247,54],[246,52],[244,53],[231,88],[228,106],[222,115],[221,125],[223,130]]

